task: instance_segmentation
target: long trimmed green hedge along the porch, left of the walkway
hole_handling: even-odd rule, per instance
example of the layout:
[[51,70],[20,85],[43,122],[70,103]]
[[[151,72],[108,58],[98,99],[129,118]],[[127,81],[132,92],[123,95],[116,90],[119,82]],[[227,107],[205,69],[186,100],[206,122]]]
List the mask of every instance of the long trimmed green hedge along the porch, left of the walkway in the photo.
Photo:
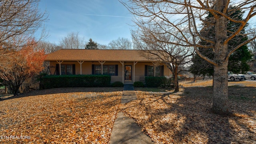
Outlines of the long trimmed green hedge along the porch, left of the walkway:
[[40,78],[40,88],[108,87],[109,75],[46,75]]

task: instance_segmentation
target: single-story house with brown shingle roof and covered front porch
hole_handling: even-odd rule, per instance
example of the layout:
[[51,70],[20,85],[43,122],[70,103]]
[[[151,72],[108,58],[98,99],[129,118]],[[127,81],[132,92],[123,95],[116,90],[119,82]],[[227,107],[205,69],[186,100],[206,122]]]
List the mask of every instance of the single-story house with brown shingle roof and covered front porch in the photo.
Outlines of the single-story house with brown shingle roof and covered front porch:
[[50,74],[108,74],[111,82],[145,82],[145,76],[170,76],[158,60],[142,56],[140,50],[62,49],[48,54]]

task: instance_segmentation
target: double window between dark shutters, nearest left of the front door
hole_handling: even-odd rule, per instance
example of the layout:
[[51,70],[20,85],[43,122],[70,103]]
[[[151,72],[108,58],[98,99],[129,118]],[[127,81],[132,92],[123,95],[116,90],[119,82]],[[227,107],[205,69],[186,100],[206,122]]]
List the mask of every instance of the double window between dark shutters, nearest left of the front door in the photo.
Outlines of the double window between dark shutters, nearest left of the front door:
[[[103,74],[115,76],[116,66],[115,65],[103,65]],[[101,74],[101,65],[95,65],[95,74]]]

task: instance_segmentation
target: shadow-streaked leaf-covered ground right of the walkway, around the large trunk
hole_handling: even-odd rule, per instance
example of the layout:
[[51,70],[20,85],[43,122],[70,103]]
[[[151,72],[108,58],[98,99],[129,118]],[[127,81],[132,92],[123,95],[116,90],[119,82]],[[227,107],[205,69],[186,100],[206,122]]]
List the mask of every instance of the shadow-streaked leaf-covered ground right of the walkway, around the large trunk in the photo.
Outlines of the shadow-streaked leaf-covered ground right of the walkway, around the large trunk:
[[211,112],[212,88],[136,91],[122,106],[156,144],[256,144],[255,87],[229,87],[230,116]]

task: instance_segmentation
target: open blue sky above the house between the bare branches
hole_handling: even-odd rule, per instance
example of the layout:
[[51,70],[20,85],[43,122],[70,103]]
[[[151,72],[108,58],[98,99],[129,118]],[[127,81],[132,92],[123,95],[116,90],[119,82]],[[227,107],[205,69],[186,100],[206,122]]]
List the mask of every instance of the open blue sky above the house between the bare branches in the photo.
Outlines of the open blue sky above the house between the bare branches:
[[42,0],[39,8],[49,15],[48,42],[59,44],[71,32],[105,45],[118,37],[131,40],[132,15],[118,0]]

